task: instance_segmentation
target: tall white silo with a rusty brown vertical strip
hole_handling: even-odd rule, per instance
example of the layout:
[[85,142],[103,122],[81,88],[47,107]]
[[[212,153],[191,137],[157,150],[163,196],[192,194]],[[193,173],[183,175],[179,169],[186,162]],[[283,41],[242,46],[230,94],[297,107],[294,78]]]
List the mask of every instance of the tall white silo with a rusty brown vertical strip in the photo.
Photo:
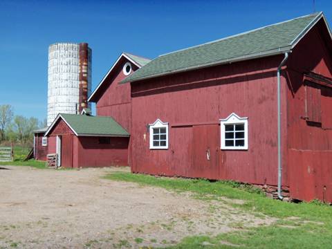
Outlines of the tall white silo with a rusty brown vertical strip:
[[57,43],[48,48],[49,126],[58,113],[80,113],[91,93],[91,49],[88,44]]

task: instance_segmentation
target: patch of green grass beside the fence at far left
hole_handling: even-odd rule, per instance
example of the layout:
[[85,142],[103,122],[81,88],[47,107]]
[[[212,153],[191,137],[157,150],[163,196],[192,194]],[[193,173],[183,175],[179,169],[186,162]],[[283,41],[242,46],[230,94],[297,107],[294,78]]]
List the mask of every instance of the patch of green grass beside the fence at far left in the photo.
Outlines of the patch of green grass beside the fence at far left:
[[14,166],[30,166],[37,169],[46,169],[44,161],[39,160],[27,160],[24,161],[28,153],[30,152],[29,147],[15,146],[14,147],[14,160],[12,162],[1,162],[0,165],[14,165]]

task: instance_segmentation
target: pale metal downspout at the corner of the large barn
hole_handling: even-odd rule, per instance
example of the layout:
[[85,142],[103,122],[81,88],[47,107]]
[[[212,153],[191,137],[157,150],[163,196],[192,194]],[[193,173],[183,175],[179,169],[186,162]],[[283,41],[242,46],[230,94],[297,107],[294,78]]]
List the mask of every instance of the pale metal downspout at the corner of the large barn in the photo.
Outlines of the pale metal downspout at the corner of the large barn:
[[277,69],[277,101],[278,101],[278,198],[284,199],[282,196],[282,111],[281,111],[281,88],[280,88],[280,71],[282,66],[288,59],[288,53],[285,53],[285,57],[278,66]]

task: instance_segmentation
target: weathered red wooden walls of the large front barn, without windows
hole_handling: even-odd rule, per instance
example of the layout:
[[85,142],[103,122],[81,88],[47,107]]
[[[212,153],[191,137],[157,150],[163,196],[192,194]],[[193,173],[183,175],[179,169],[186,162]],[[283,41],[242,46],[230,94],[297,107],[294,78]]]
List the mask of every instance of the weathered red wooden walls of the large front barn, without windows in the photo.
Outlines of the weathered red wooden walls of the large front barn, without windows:
[[[320,21],[282,71],[282,185],[294,199],[332,202],[332,90],[329,80],[324,86],[304,77],[315,73],[331,81],[331,51]],[[277,185],[276,72],[282,59],[131,83],[132,172]],[[248,117],[248,151],[220,149],[219,119],[232,112]],[[157,118],[169,123],[169,149],[149,149],[147,125]]]

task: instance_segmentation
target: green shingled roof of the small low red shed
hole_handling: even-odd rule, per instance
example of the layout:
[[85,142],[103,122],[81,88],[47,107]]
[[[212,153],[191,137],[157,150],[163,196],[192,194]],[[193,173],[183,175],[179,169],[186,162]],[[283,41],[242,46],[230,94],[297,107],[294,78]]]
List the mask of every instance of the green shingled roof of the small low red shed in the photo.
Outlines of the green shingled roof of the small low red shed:
[[[59,113],[58,118],[63,118],[77,136],[129,136],[129,133],[111,117]],[[48,128],[46,135],[55,123],[56,121]]]

